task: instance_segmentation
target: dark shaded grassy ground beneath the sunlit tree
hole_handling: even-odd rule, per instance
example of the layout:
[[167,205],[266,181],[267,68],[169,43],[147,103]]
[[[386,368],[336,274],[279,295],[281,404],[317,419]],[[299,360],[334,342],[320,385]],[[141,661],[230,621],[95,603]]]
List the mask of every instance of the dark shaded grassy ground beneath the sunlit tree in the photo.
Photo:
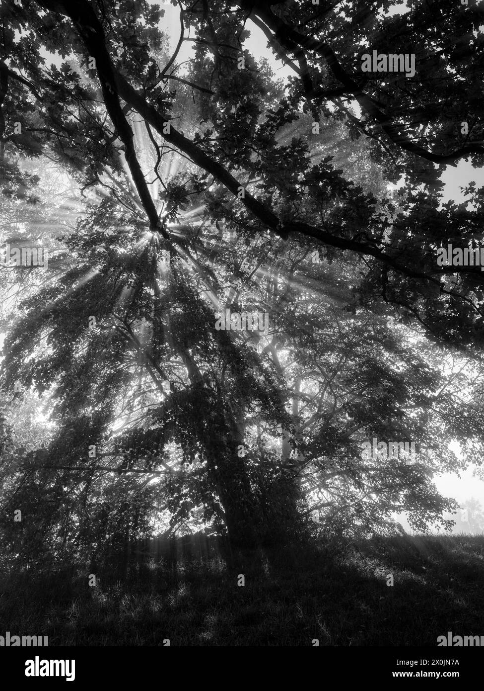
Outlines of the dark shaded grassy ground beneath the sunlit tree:
[[[53,645],[436,645],[484,635],[484,536],[162,558],[127,580],[70,567],[0,578],[0,634]],[[238,585],[244,574],[245,585]],[[393,574],[394,586],[387,586]]]

